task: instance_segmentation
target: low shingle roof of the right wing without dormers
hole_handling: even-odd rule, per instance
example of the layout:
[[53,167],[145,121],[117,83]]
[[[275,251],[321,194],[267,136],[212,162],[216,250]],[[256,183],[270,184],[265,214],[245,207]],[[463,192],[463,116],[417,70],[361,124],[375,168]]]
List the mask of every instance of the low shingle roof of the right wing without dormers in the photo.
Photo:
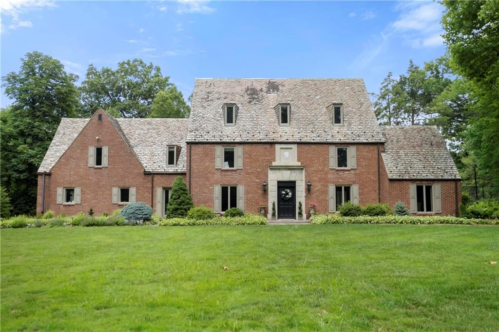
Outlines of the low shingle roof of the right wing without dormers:
[[436,126],[381,126],[391,179],[461,179]]

